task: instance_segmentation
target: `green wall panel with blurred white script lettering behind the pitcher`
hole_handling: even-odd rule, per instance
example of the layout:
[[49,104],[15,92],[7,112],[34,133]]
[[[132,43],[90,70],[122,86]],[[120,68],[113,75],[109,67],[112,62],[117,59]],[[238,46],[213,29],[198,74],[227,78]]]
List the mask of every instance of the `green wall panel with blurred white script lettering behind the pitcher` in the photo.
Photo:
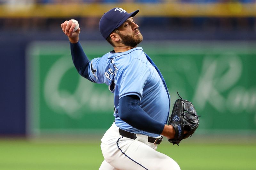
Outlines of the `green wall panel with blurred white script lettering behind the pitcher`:
[[[105,41],[81,43],[90,59],[112,50]],[[150,41],[140,46],[162,72],[171,103],[178,91],[195,105],[202,116],[198,134],[255,134],[255,42]],[[29,133],[103,132],[114,121],[108,86],[76,72],[68,41],[31,43],[26,68]]]

